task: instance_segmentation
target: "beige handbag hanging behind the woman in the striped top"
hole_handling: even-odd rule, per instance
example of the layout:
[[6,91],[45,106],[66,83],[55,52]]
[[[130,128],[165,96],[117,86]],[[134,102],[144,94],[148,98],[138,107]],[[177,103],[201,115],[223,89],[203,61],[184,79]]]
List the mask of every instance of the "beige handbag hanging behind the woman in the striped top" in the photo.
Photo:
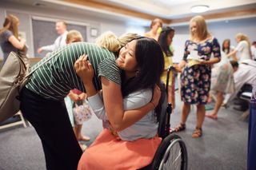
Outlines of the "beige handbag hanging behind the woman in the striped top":
[[[52,57],[47,58],[46,61],[49,61]],[[22,88],[30,81],[30,75],[46,61],[43,61],[29,73],[23,57],[10,52],[0,71],[0,122],[18,113],[20,109],[19,95]]]

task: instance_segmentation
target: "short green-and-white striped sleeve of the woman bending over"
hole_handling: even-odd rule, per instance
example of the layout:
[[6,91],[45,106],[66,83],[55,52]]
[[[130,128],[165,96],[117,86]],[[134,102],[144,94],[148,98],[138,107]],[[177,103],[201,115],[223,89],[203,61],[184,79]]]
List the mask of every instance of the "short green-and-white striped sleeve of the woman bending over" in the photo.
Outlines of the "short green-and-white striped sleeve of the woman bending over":
[[98,77],[106,77],[108,80],[121,85],[120,71],[115,64],[114,58],[106,58],[101,61],[98,65]]

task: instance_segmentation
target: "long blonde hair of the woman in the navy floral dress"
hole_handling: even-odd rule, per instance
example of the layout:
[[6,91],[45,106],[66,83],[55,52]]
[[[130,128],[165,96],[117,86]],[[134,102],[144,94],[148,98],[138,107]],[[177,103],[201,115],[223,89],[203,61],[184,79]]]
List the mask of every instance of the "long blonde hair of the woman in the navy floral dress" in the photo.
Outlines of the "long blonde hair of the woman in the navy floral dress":
[[192,22],[195,22],[197,26],[197,34],[196,35],[192,34],[190,30],[191,40],[194,40],[194,38],[198,38],[199,40],[204,40],[210,36],[210,33],[207,30],[205,18],[203,18],[201,15],[198,15],[190,19],[190,23]]

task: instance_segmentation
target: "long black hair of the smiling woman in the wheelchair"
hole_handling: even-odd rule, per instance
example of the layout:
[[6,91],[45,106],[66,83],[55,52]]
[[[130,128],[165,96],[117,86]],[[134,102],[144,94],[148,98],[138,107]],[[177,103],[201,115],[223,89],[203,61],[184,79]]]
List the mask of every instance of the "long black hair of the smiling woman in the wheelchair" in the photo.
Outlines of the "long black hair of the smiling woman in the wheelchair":
[[[154,85],[160,84],[160,77],[164,69],[162,49],[153,38],[136,38],[135,57],[138,63],[138,73],[135,77],[124,81],[125,74],[122,71],[122,96],[140,89],[154,89]],[[157,115],[160,105],[156,108]],[[161,107],[160,107],[161,109]]]

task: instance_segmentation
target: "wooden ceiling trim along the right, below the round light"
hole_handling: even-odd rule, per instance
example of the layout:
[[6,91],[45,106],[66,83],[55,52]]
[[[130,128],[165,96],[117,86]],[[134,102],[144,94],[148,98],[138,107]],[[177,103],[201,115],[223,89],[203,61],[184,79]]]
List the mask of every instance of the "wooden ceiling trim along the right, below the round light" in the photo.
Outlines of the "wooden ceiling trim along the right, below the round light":
[[[256,15],[256,9],[235,10],[230,12],[222,12],[216,14],[201,14],[206,20],[221,18],[240,18],[244,16]],[[190,17],[192,18],[192,17]],[[190,18],[172,19],[170,24],[178,24],[182,22],[190,22]]]

